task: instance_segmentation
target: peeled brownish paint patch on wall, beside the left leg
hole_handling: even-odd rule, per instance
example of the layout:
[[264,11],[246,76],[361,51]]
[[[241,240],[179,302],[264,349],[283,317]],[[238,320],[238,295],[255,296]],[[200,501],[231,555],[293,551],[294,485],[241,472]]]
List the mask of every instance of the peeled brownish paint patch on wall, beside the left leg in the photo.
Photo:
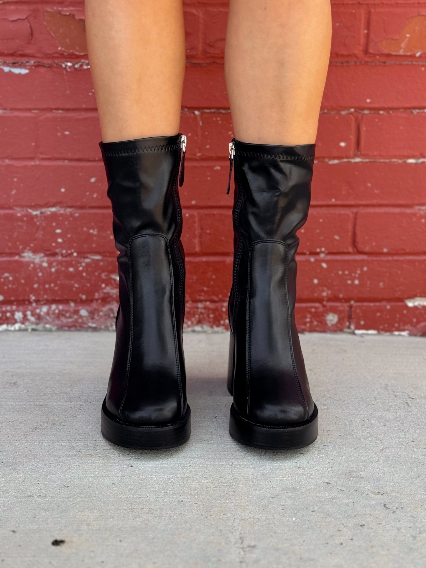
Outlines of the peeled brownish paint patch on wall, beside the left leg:
[[44,23],[61,49],[83,54],[87,53],[86,24],[84,18],[78,15],[62,10],[46,10]]

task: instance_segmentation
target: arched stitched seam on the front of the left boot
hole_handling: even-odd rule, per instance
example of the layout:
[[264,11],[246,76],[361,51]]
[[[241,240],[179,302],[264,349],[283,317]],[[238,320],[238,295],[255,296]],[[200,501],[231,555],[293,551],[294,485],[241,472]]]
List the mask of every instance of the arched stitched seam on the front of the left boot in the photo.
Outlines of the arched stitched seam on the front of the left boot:
[[[172,258],[170,256],[170,247],[169,247],[169,241],[167,239],[166,236],[161,235],[161,233],[145,233],[144,235],[135,235],[133,236],[128,245],[127,245],[127,257],[128,257],[128,261],[129,261],[129,273],[130,273],[130,341],[129,341],[129,350],[128,350],[128,355],[127,355],[127,366],[126,366],[126,378],[124,380],[124,394],[123,394],[123,400],[122,403],[120,404],[120,409],[118,411],[118,416],[119,419],[122,419],[122,410],[123,410],[123,406],[124,406],[124,402],[126,400],[127,397],[127,391],[128,391],[128,383],[129,383],[129,375],[130,375],[130,366],[131,366],[131,360],[132,360],[132,348],[133,348],[133,277],[132,277],[132,261],[131,261],[131,255],[130,255],[130,245],[133,243],[134,240],[140,238],[140,237],[152,237],[152,236],[158,236],[158,237],[162,237],[162,239],[164,239],[166,241],[167,244],[167,252],[168,252],[168,256],[169,256],[169,275],[170,275],[170,285],[172,286],[172,291],[171,291],[171,304],[172,304],[172,320],[173,320],[173,341],[174,341],[174,353],[175,353],[175,358],[176,358],[176,371],[177,371],[177,378],[178,378],[178,386],[179,386],[179,394],[181,396],[181,415],[182,415],[182,410],[183,410],[183,389],[182,389],[182,381],[181,381],[181,369],[179,366],[179,351],[178,351],[178,346],[177,346],[177,331],[176,331],[176,315],[174,314],[174,282],[173,282],[173,273],[172,273]],[[182,417],[182,416],[181,416]]]

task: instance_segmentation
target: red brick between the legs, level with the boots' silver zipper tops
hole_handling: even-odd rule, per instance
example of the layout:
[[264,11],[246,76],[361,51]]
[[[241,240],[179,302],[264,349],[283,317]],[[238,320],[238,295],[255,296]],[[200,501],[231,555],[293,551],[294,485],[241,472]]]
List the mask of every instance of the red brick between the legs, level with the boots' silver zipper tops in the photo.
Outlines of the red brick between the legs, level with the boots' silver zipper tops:
[[228,157],[228,145],[233,138],[231,112],[202,112],[201,147],[204,157]]

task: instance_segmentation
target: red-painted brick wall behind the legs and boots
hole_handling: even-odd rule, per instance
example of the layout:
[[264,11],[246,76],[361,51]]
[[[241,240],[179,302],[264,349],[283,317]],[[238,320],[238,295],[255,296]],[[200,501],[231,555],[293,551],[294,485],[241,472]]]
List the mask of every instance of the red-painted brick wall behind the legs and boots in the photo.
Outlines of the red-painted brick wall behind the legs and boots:
[[[187,1],[187,325],[227,326],[225,2]],[[115,250],[83,4],[0,4],[0,323],[111,325]],[[333,2],[300,329],[426,332],[426,2]],[[420,302],[421,303],[421,302]]]

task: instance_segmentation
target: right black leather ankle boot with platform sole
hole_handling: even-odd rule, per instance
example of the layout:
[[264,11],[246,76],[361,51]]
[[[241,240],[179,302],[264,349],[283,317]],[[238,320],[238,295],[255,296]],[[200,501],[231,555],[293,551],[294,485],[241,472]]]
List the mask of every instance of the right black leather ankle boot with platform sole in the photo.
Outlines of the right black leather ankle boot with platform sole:
[[308,215],[314,152],[315,144],[229,144],[229,181],[235,165],[229,433],[256,448],[302,448],[318,433],[294,320],[296,231]]

